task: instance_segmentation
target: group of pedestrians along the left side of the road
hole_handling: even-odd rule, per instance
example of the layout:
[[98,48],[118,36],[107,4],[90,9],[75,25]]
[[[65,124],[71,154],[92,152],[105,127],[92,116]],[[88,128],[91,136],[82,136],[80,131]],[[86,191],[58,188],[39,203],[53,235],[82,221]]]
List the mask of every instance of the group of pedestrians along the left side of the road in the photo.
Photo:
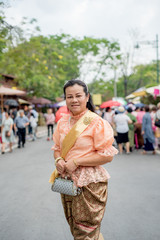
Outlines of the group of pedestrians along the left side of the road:
[[[4,108],[0,135],[1,153],[5,153],[7,145],[9,145],[9,152],[12,152],[13,144],[16,142],[18,143],[18,148],[24,148],[26,134],[30,141],[35,141],[37,138],[38,118],[39,113],[32,106],[25,105],[24,108],[20,110],[16,108],[7,110]],[[55,123],[55,115],[52,113],[52,109],[47,110],[44,118],[48,130],[47,140],[50,140],[53,135]]]

